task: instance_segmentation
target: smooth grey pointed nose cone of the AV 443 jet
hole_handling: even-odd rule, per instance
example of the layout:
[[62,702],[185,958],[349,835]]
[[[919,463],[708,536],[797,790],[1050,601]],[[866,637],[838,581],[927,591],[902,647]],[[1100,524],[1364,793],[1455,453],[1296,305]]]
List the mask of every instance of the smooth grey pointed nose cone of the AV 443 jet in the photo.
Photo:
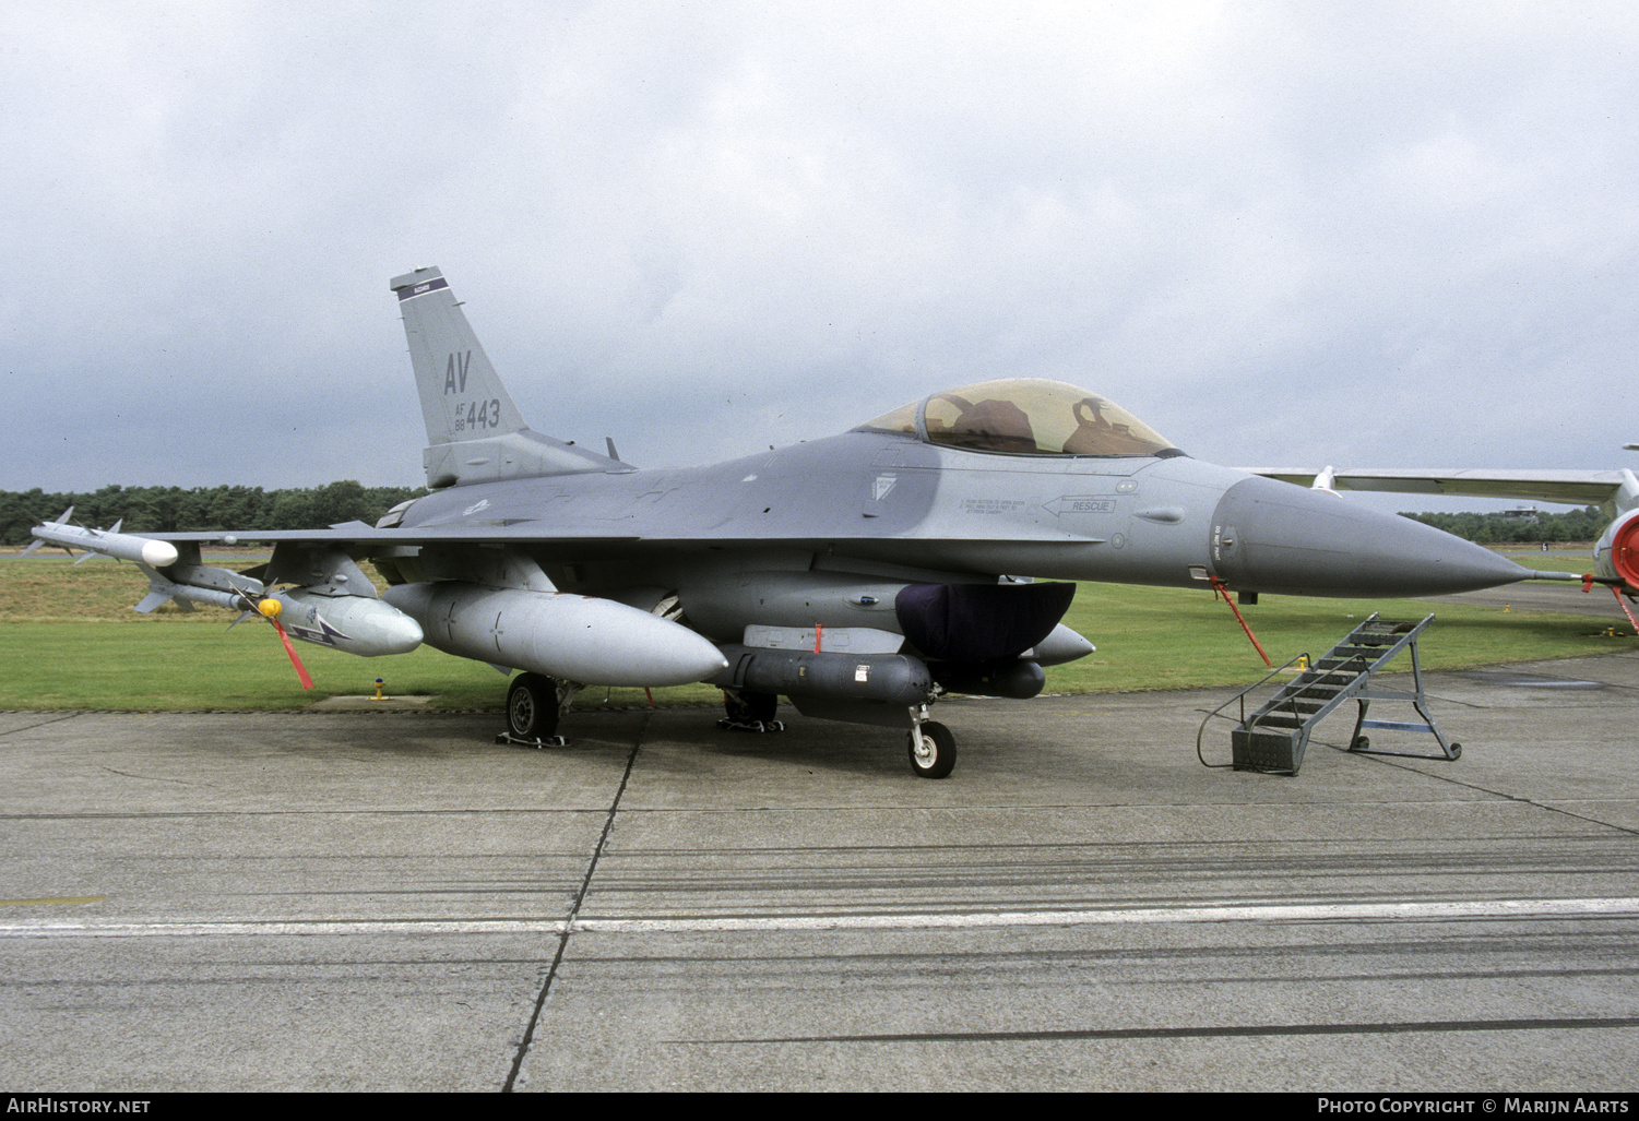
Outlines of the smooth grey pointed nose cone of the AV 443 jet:
[[1449,595],[1534,575],[1419,521],[1274,479],[1224,492],[1208,547],[1218,575],[1246,592]]

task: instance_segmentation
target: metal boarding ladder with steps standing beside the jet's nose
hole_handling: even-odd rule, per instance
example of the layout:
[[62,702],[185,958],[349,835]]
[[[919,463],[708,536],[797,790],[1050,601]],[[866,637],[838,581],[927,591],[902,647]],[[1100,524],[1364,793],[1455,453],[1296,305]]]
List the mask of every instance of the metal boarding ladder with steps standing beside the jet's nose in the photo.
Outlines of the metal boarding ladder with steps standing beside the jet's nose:
[[[1208,721],[1229,708],[1229,705],[1241,701],[1237,726],[1229,733],[1234,756],[1231,765],[1236,770],[1295,775],[1303,764],[1303,751],[1308,747],[1314,726],[1339,705],[1354,700],[1360,705],[1360,713],[1355,716],[1354,731],[1349,736],[1349,751],[1375,756],[1411,756],[1414,759],[1459,759],[1462,756],[1462,744],[1446,741],[1439,724],[1434,723],[1434,716],[1428,710],[1428,697],[1423,692],[1418,636],[1432,621],[1434,616],[1429,615],[1421,623],[1396,623],[1380,620],[1373,613],[1372,618],[1352,629],[1337,646],[1323,654],[1319,660],[1310,662],[1308,669],[1282,685],[1251,716],[1246,715],[1247,693],[1269,682],[1280,670],[1249,685],[1208,713],[1195,738],[1196,754],[1200,754],[1201,734],[1206,731]],[[1411,692],[1372,688],[1372,675],[1388,665],[1406,647],[1411,649],[1411,680],[1414,688]],[[1293,659],[1293,662],[1296,660],[1300,659]],[[1308,660],[1306,656],[1303,660]],[[1287,665],[1292,665],[1292,662]],[[1423,716],[1423,723],[1367,719],[1365,713],[1373,700],[1411,701],[1418,715]],[[1378,728],[1431,733],[1436,742],[1439,742],[1441,754],[1428,756],[1408,751],[1372,749],[1370,741],[1360,733]],[[1201,762],[1206,762],[1205,757],[1201,757]]]

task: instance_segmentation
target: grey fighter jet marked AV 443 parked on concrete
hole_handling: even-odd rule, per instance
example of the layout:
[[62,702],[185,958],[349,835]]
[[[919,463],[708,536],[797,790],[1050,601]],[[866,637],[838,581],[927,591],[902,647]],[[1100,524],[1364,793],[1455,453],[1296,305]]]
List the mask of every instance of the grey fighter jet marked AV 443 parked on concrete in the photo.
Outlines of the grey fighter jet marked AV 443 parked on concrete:
[[[136,560],[139,611],[216,603],[354,654],[426,642],[521,670],[506,723],[526,742],[556,736],[585,685],[710,682],[724,728],[779,729],[787,697],[808,716],[903,729],[926,778],[956,760],[929,719],[941,697],[1029,698],[1044,667],[1093,651],[1060,623],[1072,580],[1405,597],[1534,575],[1406,518],[1192,459],[1108,397],[1041,379],[639,470],[613,441],[603,456],[529,429],[438,269],[392,292],[433,493],[375,526],[138,536],[61,518],[34,536]],[[200,546],[239,539],[274,546],[266,569],[202,564]]]

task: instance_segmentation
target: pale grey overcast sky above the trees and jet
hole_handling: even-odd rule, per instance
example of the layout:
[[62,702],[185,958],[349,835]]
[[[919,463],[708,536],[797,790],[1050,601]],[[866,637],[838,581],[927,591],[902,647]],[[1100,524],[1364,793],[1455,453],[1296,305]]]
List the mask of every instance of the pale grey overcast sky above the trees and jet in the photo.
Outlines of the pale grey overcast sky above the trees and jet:
[[1236,465],[1639,465],[1631,0],[7,0],[0,151],[7,490],[421,483],[428,264],[639,465],[1003,375]]

